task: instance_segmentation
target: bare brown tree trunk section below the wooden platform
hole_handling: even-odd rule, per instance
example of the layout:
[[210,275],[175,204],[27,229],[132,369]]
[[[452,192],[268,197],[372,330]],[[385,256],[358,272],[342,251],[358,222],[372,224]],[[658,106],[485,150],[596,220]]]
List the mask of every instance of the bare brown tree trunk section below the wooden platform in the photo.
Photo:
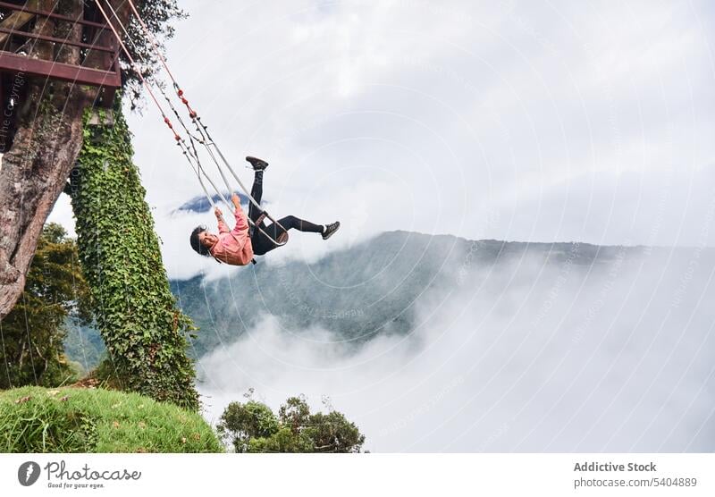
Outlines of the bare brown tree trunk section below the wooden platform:
[[29,86],[29,105],[0,169],[0,319],[22,293],[42,226],[82,146],[87,98],[65,83],[50,98],[41,82]]

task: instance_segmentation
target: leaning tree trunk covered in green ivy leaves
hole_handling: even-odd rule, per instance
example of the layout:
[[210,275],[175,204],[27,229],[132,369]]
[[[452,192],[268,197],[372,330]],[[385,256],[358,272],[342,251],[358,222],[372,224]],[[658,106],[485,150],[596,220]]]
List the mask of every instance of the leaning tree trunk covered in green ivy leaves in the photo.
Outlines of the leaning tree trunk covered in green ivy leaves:
[[122,389],[198,409],[194,328],[169,290],[121,105],[114,112],[114,127],[85,127],[68,189],[97,326]]

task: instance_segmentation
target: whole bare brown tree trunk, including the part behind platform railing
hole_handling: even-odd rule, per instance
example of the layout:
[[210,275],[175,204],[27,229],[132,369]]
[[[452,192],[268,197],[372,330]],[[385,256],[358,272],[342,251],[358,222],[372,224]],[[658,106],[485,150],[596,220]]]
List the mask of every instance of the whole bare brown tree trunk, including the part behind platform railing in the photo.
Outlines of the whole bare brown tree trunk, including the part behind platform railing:
[[[52,11],[54,0],[38,0]],[[60,0],[55,12],[82,15],[82,0]],[[65,21],[40,21],[35,32],[80,41],[81,29]],[[79,63],[77,48],[38,42],[30,56],[55,57]],[[47,216],[63,187],[82,146],[82,115],[92,104],[92,90],[44,78],[16,75],[13,88],[27,87],[16,105],[17,131],[13,145],[0,163],[0,320],[20,297],[25,274]],[[3,109],[5,111],[5,109]]]

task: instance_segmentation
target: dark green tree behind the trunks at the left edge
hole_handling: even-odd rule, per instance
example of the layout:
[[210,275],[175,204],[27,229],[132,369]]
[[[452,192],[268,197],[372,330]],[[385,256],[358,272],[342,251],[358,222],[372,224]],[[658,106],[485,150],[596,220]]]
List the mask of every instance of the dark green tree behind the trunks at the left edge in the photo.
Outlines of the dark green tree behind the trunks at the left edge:
[[77,245],[59,224],[49,223],[18,303],[0,322],[0,389],[73,381],[64,355],[68,316],[88,318],[88,287],[80,272]]

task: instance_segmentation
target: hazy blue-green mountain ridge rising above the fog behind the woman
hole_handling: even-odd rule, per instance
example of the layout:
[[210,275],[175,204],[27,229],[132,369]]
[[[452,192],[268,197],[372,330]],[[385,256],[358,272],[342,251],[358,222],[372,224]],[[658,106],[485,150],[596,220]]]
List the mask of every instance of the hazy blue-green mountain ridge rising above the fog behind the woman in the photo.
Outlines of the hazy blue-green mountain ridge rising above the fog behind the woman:
[[[200,358],[238,340],[266,315],[274,316],[289,332],[317,327],[332,333],[335,341],[357,347],[377,336],[409,333],[416,323],[416,300],[425,295],[478,291],[484,282],[498,278],[508,284],[509,271],[532,272],[531,277],[543,279],[546,268],[559,268],[586,277],[638,257],[676,253],[680,259],[688,250],[695,249],[469,240],[395,230],[310,264],[259,262],[217,280],[206,281],[198,274],[171,280],[170,285],[181,310],[198,325],[191,353]],[[702,250],[715,253],[715,249]],[[509,269],[515,265],[516,269]],[[556,284],[558,274],[549,277],[554,279],[550,284]],[[76,343],[81,340],[76,333],[72,341],[77,355]],[[96,342],[91,333],[86,341]]]

